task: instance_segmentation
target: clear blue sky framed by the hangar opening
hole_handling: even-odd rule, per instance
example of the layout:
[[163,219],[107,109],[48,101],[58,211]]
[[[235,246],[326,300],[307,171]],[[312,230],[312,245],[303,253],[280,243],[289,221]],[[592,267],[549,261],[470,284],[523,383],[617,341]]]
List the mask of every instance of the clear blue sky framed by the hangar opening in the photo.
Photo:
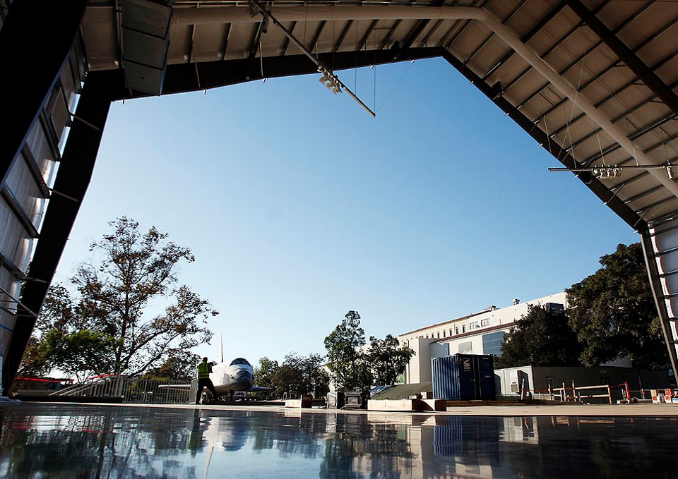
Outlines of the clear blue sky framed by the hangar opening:
[[[55,281],[117,217],[191,248],[211,344],[256,363],[563,291],[639,236],[441,59],[116,102]],[[375,94],[376,90],[376,94]]]

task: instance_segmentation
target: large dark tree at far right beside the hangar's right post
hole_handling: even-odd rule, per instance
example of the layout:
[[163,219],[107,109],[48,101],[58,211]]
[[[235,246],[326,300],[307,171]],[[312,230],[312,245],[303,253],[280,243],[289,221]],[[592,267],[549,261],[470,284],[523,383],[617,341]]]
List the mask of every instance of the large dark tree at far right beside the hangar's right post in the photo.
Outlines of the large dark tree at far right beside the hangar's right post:
[[570,325],[581,360],[598,365],[629,357],[640,367],[665,367],[668,354],[640,243],[619,244],[602,267],[566,289]]

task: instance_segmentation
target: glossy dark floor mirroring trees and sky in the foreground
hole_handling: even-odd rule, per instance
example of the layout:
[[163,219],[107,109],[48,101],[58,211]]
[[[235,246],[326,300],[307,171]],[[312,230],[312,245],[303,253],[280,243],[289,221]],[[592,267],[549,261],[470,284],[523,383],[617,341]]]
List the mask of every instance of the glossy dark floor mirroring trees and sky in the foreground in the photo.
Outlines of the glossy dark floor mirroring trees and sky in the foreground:
[[678,418],[0,406],[1,478],[678,478]]

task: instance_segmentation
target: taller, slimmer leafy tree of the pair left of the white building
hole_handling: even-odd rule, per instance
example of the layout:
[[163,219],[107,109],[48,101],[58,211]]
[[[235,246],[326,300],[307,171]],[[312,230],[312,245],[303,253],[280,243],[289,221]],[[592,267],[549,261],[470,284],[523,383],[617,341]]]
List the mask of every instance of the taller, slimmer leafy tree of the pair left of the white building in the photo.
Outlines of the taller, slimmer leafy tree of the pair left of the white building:
[[349,391],[371,386],[371,370],[361,349],[364,345],[365,332],[360,327],[357,311],[346,313],[342,322],[326,336],[327,366],[338,389]]

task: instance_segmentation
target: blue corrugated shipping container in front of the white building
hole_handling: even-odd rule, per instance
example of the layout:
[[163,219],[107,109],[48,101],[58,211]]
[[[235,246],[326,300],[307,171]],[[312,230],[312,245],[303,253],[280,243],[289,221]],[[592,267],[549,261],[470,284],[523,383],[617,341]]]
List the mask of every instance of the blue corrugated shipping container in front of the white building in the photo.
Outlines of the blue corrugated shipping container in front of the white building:
[[494,360],[484,354],[461,354],[431,358],[434,399],[491,400],[494,391]]

